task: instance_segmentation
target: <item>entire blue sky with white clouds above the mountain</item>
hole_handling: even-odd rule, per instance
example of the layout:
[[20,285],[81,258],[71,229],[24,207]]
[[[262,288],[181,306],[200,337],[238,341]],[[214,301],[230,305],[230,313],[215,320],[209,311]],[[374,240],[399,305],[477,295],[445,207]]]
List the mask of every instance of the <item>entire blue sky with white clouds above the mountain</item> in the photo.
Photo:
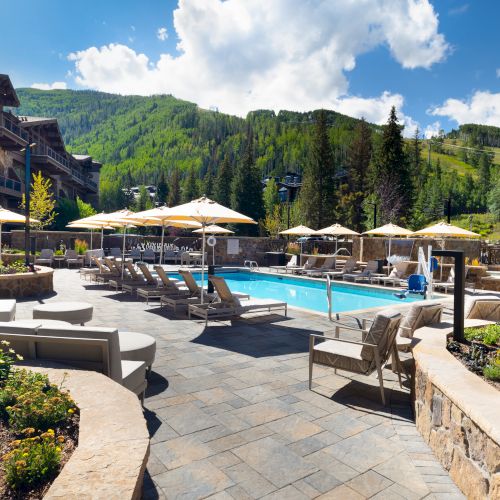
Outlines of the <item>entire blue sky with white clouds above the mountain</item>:
[[171,93],[243,116],[326,107],[378,123],[395,104],[407,133],[500,126],[496,0],[3,0],[2,18],[13,42],[0,72],[16,87]]

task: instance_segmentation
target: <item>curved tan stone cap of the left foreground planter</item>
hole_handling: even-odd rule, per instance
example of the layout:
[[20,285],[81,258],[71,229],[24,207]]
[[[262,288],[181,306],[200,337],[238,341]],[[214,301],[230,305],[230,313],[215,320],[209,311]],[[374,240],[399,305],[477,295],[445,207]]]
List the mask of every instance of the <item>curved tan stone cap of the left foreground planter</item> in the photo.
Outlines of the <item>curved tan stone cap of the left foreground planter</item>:
[[78,447],[44,499],[141,498],[149,434],[137,396],[100,373],[27,368],[62,384],[80,408]]

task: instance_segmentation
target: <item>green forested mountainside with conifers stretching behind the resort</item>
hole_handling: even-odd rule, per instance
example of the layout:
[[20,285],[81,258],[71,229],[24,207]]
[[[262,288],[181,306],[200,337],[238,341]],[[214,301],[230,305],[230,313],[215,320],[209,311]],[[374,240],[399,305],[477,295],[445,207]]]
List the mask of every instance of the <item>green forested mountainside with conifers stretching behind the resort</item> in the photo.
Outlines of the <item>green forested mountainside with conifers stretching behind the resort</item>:
[[[377,204],[378,222],[419,228],[444,216],[448,198],[453,215],[489,209],[500,217],[496,127],[462,126],[429,143],[418,135],[403,139],[394,110],[378,127],[334,111],[260,110],[243,119],[166,95],[33,89],[18,95],[19,114],[56,117],[71,151],[103,162],[104,210],[131,206],[123,188],[155,184],[160,203],[206,193],[275,234],[287,210],[274,182],[262,196],[261,180],[301,171],[292,224],[338,221],[362,230],[371,227]],[[136,209],[149,203],[141,193]]]

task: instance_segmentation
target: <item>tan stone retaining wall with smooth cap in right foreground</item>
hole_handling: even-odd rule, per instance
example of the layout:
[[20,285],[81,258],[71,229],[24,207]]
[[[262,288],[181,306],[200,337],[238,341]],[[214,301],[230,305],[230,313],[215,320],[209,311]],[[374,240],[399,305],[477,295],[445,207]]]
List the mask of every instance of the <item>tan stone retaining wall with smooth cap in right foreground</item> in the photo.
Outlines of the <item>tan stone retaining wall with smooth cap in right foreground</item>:
[[467,498],[498,499],[500,392],[446,350],[451,331],[436,325],[415,332],[417,429]]

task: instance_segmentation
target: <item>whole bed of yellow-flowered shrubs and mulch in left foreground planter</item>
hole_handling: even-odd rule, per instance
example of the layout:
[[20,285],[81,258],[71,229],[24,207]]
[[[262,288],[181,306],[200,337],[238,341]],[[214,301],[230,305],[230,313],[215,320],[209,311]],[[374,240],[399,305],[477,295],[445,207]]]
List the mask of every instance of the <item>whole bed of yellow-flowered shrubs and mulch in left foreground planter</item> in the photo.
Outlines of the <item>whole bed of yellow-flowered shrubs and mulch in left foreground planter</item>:
[[[78,408],[46,375],[0,350],[0,498],[42,498],[78,442]],[[17,356],[17,358],[20,358]]]

